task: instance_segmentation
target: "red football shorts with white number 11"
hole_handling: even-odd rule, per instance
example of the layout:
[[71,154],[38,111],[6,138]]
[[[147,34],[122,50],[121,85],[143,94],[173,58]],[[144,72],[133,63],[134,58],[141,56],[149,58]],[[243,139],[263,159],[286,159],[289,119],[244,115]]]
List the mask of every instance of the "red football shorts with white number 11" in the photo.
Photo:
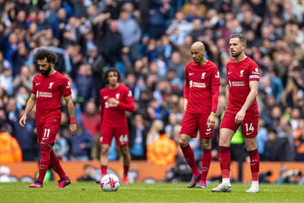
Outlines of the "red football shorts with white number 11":
[[59,127],[60,123],[55,121],[37,125],[36,129],[38,143],[48,143],[53,146]]

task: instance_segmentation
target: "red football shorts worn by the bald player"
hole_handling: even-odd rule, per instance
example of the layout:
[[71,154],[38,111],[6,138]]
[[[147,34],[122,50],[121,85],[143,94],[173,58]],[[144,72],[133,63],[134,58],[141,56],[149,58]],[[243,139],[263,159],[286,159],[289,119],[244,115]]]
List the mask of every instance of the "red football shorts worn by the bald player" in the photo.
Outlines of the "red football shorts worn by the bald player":
[[180,123],[179,134],[187,134],[196,138],[198,130],[200,130],[201,138],[213,137],[213,128],[207,126],[208,117],[208,114],[195,114],[186,111]]

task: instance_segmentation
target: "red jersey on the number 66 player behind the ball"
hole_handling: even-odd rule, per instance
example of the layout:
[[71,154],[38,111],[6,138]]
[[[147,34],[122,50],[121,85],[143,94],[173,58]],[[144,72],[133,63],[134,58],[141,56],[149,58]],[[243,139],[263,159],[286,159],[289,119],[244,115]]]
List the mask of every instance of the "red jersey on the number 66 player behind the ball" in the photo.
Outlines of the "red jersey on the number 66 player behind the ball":
[[[119,105],[109,104],[108,98],[116,98]],[[123,84],[119,84],[116,89],[105,87],[100,90],[101,103],[101,125],[126,126],[127,118],[125,111],[135,111],[131,90]]]

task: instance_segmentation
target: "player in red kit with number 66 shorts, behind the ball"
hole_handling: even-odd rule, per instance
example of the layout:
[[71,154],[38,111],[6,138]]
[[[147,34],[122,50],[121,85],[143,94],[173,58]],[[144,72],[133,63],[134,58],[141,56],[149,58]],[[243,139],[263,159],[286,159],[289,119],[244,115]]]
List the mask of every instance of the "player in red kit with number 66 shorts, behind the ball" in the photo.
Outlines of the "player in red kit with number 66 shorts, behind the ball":
[[101,129],[100,129],[100,169],[101,177],[106,175],[108,153],[112,138],[123,156],[124,174],[122,183],[126,184],[131,161],[129,153],[129,129],[126,111],[134,112],[134,101],[131,90],[119,83],[120,73],[116,69],[108,69],[104,74],[108,86],[100,90]]

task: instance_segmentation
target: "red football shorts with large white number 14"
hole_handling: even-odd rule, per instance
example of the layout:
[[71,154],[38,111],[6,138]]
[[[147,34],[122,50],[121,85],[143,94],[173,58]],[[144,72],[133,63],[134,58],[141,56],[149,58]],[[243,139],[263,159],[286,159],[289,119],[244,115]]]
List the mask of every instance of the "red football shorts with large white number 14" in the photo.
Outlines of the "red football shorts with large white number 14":
[[[236,124],[235,118],[235,114],[225,112],[220,128],[228,128],[236,132],[240,124]],[[255,138],[257,136],[258,115],[246,113],[241,126],[245,138]]]

